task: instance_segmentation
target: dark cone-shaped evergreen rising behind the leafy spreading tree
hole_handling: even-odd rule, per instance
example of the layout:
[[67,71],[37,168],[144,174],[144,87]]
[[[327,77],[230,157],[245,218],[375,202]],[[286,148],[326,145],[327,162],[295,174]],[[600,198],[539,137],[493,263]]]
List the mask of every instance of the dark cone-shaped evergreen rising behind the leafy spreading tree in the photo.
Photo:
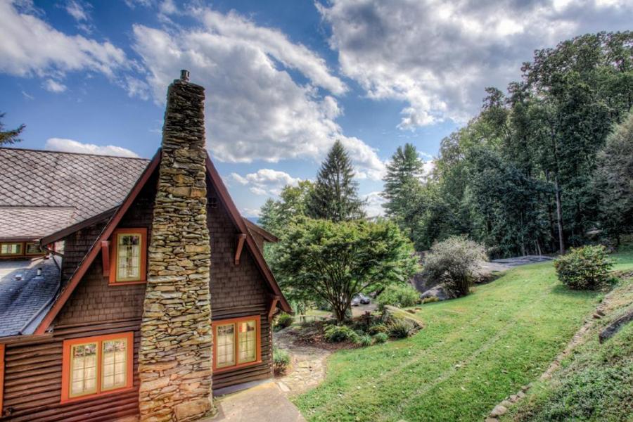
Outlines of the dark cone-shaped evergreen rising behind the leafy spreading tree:
[[316,219],[340,222],[365,216],[364,202],[358,198],[358,183],[350,156],[336,141],[321,164],[314,191],[308,203],[308,215]]

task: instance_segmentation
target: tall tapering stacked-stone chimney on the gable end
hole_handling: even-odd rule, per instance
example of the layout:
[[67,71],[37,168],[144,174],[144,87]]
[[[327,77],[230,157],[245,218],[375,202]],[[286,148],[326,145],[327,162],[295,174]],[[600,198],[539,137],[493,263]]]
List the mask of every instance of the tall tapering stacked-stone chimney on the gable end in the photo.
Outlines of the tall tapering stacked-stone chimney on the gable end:
[[212,410],[204,88],[181,71],[167,91],[141,322],[141,421]]

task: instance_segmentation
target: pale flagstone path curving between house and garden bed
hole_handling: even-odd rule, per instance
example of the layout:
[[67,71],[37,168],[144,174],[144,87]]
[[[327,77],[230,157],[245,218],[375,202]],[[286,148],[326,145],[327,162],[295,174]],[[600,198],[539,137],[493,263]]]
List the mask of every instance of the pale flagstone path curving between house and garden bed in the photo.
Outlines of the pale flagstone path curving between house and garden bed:
[[294,339],[295,336],[287,328],[274,333],[276,346],[288,350],[292,358],[288,374],[276,379],[281,391],[288,396],[298,395],[319,385],[325,378],[325,360],[332,353],[318,347],[295,345]]

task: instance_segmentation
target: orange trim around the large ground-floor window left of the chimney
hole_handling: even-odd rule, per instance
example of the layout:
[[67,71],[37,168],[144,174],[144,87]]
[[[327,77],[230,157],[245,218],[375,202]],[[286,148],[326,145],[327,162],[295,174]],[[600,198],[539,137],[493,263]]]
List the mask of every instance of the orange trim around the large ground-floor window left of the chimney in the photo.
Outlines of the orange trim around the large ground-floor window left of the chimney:
[[[125,376],[125,386],[121,388],[115,388],[113,390],[101,391],[101,370],[103,366],[102,360],[102,345],[106,340],[115,340],[124,338],[127,340],[127,368],[126,368],[126,376]],[[96,392],[80,395],[77,397],[70,397],[70,371],[72,368],[70,367],[70,352],[72,350],[72,346],[82,345],[84,343],[97,343],[97,354],[96,354]],[[79,402],[81,400],[86,399],[94,399],[95,397],[101,397],[103,395],[113,394],[115,392],[122,392],[127,390],[132,390],[134,388],[134,333],[118,333],[118,334],[108,334],[108,335],[95,335],[94,337],[82,337],[82,338],[73,338],[72,340],[64,340],[63,345],[63,358],[62,358],[62,391],[61,391],[61,403],[70,403],[70,402]]]

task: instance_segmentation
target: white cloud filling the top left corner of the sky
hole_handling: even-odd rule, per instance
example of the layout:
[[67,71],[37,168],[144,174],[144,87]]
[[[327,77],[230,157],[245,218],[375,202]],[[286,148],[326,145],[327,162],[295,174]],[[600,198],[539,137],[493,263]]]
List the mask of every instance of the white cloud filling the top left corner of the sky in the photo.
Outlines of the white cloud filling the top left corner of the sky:
[[109,41],[64,34],[33,8],[18,11],[6,0],[0,1],[0,39],[0,72],[10,75],[63,77],[91,70],[113,77],[115,70],[127,66],[125,53]]

